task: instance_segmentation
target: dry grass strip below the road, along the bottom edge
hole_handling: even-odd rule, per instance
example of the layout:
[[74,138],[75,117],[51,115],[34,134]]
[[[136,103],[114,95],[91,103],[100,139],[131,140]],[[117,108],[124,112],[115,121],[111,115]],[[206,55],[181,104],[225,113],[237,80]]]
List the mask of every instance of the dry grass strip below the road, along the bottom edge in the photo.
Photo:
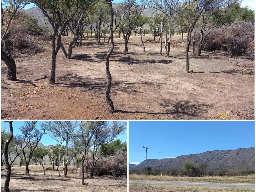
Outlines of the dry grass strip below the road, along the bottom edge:
[[129,192],[253,192],[253,187],[206,187],[129,184]]

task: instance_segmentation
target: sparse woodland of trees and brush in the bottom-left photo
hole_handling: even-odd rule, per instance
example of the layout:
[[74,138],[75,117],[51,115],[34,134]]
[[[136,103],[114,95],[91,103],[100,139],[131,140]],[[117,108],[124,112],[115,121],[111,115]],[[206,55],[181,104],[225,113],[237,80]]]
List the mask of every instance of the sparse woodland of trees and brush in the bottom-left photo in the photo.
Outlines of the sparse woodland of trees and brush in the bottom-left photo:
[[[42,166],[44,175],[52,174],[47,170],[59,172],[65,178],[75,174],[82,185],[88,185],[85,178],[94,176],[119,178],[127,183],[127,144],[116,139],[126,130],[126,122],[32,121],[24,122],[14,131],[13,122],[8,123],[10,127],[2,129],[5,191],[9,191],[14,165],[25,165],[25,175],[29,175],[30,165]],[[17,134],[18,129],[21,134]],[[57,144],[44,147],[41,139],[45,134]]]

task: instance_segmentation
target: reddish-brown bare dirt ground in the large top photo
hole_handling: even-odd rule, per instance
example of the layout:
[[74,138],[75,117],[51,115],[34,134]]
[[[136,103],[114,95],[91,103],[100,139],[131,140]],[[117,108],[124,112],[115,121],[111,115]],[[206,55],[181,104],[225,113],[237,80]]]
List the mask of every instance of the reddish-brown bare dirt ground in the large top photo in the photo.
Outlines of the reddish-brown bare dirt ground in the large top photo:
[[[69,40],[63,39],[65,47]],[[2,119],[254,119],[254,75],[228,62],[228,56],[190,52],[189,74],[184,48],[171,45],[171,56],[165,57],[160,44],[145,42],[144,53],[140,37],[132,36],[125,55],[123,39],[114,42],[114,114],[105,101],[110,45],[84,38],[73,59],[59,51],[55,85],[48,84],[50,43],[42,54],[16,59],[17,82],[6,80],[2,62]]]

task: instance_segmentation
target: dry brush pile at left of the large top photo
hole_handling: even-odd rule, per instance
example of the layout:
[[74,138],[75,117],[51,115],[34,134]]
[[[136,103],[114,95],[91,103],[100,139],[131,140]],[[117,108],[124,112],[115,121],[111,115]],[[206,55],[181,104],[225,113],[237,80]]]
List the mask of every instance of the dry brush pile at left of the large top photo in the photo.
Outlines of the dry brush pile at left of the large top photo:
[[[7,19],[7,16],[4,18]],[[43,41],[52,38],[45,28],[37,25],[37,20],[33,16],[25,13],[19,13],[10,24],[9,31],[6,41],[14,58],[43,52]]]

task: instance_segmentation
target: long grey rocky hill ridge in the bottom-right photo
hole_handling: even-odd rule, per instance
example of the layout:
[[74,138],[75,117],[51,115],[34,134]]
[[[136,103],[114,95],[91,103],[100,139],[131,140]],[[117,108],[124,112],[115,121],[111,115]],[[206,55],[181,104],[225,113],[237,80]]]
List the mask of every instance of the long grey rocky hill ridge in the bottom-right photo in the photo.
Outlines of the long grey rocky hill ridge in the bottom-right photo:
[[[183,164],[192,161],[195,165],[205,162],[209,169],[236,169],[254,170],[255,156],[254,147],[226,151],[207,151],[200,154],[182,155],[176,158],[160,159],[161,170],[182,169]],[[152,169],[159,169],[158,159],[148,159],[148,166]],[[130,170],[143,169],[146,167],[146,160],[138,165],[129,164]]]

